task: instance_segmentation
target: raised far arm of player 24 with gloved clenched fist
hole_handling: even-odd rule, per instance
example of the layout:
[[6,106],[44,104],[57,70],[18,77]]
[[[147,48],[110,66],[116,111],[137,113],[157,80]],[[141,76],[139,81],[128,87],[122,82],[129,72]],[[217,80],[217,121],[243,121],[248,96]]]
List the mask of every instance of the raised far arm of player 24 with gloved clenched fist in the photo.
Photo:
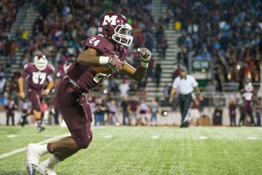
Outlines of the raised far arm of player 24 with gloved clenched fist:
[[147,73],[148,62],[151,59],[151,53],[147,48],[137,49],[139,57],[141,59],[141,65],[138,69],[135,69],[130,64],[125,61],[122,72],[127,76],[131,77],[133,80],[141,81]]

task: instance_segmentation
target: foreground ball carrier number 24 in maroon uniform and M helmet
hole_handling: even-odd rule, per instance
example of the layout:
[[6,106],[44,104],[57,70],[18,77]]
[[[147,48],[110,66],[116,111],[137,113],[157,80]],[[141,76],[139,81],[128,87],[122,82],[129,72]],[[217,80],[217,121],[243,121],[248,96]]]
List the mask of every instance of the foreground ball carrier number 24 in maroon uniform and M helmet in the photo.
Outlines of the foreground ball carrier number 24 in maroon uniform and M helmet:
[[[27,146],[27,169],[29,175],[36,171],[45,175],[56,175],[54,166],[80,149],[88,147],[92,141],[92,114],[85,94],[110,75],[101,74],[93,67],[107,65],[113,74],[122,72],[134,80],[141,81],[146,72],[151,53],[147,48],[138,49],[141,66],[136,70],[126,63],[127,52],[123,46],[132,43],[131,26],[127,19],[117,13],[102,16],[98,22],[98,35],[90,36],[78,56],[70,65],[63,80],[55,89],[55,101],[62,113],[71,137],[55,143]],[[53,154],[39,163],[44,154]]]

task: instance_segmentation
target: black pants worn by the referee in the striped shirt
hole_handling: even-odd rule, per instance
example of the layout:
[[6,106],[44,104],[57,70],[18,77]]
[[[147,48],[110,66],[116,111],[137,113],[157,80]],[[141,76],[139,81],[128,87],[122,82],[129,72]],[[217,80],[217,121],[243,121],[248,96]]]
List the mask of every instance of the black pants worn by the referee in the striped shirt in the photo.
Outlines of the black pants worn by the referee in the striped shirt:
[[181,109],[181,123],[185,123],[189,116],[189,108],[191,108],[193,104],[193,98],[191,93],[187,95],[179,95],[179,103]]

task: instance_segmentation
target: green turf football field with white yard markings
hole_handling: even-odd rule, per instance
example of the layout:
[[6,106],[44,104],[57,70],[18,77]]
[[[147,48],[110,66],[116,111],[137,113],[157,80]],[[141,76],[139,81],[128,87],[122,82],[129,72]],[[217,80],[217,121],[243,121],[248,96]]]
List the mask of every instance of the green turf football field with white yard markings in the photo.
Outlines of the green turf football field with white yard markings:
[[[262,175],[262,127],[92,130],[89,147],[58,164],[58,175]],[[67,132],[60,127],[42,133],[35,127],[0,127],[0,155]],[[0,175],[27,175],[25,164],[24,151],[2,158]]]

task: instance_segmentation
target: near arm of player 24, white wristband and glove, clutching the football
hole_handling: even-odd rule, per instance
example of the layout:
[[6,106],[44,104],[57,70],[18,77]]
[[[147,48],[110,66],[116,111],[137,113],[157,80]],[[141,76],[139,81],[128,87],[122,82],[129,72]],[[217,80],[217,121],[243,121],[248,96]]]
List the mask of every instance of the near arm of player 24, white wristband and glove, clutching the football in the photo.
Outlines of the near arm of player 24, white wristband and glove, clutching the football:
[[82,65],[99,66],[109,64],[113,73],[118,73],[122,70],[124,62],[120,61],[118,56],[97,56],[98,52],[94,48],[88,48],[81,52],[77,58],[77,63]]

